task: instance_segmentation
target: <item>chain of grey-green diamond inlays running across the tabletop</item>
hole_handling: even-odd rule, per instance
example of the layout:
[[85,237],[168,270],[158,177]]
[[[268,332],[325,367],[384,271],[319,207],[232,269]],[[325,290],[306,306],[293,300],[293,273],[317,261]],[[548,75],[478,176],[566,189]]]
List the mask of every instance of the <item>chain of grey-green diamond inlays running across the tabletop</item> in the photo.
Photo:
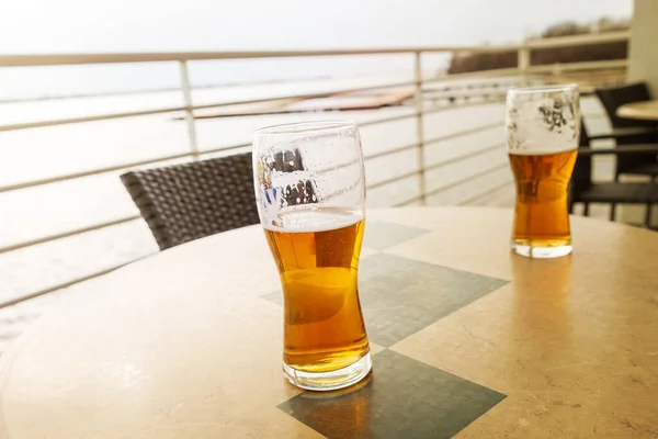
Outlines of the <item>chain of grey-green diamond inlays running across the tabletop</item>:
[[[375,250],[427,233],[368,226],[366,240]],[[367,255],[360,262],[359,295],[368,339],[392,347],[507,283],[385,252]],[[281,304],[282,293],[263,299]],[[328,438],[450,438],[506,397],[389,349],[376,353],[373,364],[373,373],[352,387],[305,392],[279,408]]]

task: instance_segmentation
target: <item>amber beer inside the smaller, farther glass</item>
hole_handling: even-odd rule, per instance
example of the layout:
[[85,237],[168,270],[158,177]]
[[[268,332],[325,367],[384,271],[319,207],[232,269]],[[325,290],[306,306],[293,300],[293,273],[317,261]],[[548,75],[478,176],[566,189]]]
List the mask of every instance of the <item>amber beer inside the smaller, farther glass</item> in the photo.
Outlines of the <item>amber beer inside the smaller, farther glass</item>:
[[517,184],[514,246],[530,249],[568,246],[565,251],[570,251],[567,196],[577,154],[576,149],[533,155],[509,151]]

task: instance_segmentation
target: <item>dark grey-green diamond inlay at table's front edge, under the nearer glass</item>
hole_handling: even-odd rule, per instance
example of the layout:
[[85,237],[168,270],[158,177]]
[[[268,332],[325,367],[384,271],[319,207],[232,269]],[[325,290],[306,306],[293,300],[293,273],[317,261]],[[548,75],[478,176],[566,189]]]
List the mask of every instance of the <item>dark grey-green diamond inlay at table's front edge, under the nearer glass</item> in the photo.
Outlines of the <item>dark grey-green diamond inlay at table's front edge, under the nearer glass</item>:
[[330,439],[442,439],[506,397],[392,350],[377,353],[373,364],[361,386],[304,392],[279,408]]

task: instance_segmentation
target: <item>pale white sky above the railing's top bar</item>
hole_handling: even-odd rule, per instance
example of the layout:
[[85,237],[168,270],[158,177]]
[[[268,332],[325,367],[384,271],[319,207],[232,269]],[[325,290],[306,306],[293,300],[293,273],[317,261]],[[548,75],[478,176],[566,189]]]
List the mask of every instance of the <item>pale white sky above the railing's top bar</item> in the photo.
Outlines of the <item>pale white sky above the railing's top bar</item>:
[[0,54],[514,43],[632,0],[2,0]]

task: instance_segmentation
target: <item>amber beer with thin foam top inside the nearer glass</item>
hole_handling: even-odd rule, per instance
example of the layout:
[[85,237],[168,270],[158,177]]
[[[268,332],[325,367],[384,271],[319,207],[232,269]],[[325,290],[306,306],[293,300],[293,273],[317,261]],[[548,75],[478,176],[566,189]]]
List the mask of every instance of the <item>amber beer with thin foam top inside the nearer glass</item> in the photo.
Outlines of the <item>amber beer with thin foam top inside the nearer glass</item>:
[[284,297],[284,363],[321,373],[368,353],[356,272],[364,221],[350,212],[309,207],[265,226]]

